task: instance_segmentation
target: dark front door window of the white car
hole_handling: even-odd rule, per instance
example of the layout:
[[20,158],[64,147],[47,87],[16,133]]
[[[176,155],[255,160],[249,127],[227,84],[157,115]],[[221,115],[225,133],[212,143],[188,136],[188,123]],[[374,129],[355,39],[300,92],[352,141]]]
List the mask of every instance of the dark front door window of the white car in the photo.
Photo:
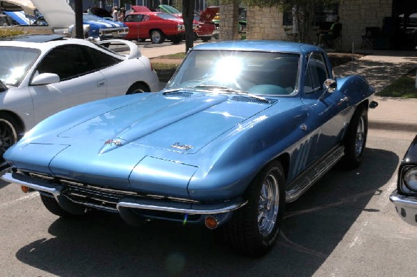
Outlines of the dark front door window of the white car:
[[76,44],[66,44],[49,51],[35,72],[58,74],[61,81],[88,74],[95,70],[88,60],[88,48]]

